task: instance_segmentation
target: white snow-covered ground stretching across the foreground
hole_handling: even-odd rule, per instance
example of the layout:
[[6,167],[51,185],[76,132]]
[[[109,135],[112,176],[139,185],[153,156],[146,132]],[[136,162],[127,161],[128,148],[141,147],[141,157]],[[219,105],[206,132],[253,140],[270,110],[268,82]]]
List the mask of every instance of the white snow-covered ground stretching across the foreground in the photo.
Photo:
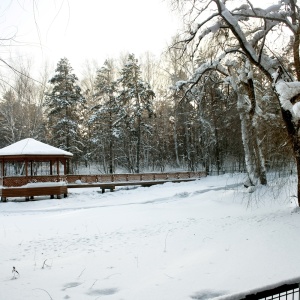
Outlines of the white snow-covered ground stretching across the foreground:
[[0,203],[0,299],[205,299],[299,276],[296,180],[242,180]]

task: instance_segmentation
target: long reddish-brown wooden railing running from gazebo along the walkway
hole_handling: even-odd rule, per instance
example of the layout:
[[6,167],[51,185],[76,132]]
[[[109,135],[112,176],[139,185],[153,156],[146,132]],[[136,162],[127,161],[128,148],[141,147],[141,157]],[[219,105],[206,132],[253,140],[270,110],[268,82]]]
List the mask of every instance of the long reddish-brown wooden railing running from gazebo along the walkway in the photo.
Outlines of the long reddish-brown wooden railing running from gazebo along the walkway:
[[[67,183],[105,183],[105,182],[134,182],[134,181],[159,181],[176,179],[197,179],[206,176],[205,172],[172,172],[172,173],[140,173],[140,174],[98,174],[98,175],[47,175],[47,176],[11,176],[3,177],[5,187],[18,187],[28,183],[60,182]],[[1,182],[0,182],[1,183]],[[1,184],[0,184],[1,185]]]

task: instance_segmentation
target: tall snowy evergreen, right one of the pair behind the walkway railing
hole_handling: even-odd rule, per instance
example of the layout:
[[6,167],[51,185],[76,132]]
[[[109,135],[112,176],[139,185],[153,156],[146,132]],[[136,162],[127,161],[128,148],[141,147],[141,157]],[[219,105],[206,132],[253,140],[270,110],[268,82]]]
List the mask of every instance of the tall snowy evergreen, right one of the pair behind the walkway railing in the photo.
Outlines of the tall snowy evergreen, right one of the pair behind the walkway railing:
[[[151,134],[147,118],[153,114],[152,99],[155,94],[150,85],[142,80],[140,65],[134,54],[128,56],[118,82],[121,84],[119,98],[125,108],[125,128],[129,145],[135,146],[135,149],[127,149],[128,168],[139,173],[143,137]],[[134,152],[135,155],[132,155]]]

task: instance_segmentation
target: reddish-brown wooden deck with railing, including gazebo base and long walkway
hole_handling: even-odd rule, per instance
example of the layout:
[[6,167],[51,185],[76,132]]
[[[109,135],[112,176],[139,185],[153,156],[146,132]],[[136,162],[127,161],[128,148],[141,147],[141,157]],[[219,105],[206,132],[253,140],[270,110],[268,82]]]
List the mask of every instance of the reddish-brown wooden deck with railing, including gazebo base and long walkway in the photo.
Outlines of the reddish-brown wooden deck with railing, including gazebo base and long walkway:
[[[32,176],[32,177],[4,177],[1,178],[1,201],[8,197],[25,197],[26,200],[34,196],[50,196],[58,199],[67,197],[68,188],[100,187],[114,191],[117,186],[144,186],[149,187],[167,182],[193,181],[205,177],[205,172],[176,172],[176,173],[141,173],[141,174],[100,174],[100,175],[64,175],[64,176]],[[61,182],[66,182],[62,185]],[[35,183],[45,183],[36,186]],[[48,184],[51,183],[51,184]],[[57,183],[57,185],[56,185]],[[29,184],[29,186],[28,186]],[[30,185],[33,184],[33,185]]]

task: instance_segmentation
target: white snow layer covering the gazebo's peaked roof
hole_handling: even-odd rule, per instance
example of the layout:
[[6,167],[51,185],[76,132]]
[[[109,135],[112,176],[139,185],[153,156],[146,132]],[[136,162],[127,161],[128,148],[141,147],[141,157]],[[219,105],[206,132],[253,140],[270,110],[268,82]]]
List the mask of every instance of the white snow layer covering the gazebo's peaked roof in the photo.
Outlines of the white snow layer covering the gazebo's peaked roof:
[[73,156],[71,152],[47,145],[32,138],[21,140],[0,149],[0,156],[16,155]]

